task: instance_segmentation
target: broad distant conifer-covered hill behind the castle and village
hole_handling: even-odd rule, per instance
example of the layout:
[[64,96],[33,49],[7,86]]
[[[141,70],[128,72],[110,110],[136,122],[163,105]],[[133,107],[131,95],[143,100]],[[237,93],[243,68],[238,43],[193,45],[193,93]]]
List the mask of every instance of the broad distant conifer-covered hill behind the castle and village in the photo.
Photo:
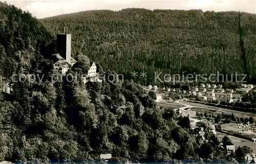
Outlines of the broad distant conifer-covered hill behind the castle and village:
[[[240,15],[240,16],[239,16]],[[240,18],[239,18],[240,17]],[[52,33],[67,26],[72,53],[118,73],[235,74],[256,77],[256,16],[201,10],[85,11],[41,19]],[[140,78],[140,79],[139,79]],[[145,82],[136,77],[135,81]]]

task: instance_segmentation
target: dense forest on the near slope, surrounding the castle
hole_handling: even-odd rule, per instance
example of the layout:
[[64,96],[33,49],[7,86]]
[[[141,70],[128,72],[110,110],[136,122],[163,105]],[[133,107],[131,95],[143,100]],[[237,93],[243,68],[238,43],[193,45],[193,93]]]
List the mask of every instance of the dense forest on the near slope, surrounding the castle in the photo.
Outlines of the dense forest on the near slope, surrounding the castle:
[[[243,161],[251,153],[239,148],[227,155],[225,146],[232,143],[211,134],[209,122],[198,125],[205,131],[203,140],[201,128],[192,130],[189,118],[173,108],[156,107],[156,94],[145,93],[133,80],[103,80],[89,87],[68,77],[51,81],[53,37],[30,13],[14,6],[0,3],[0,15],[0,71],[12,88],[10,94],[0,93],[1,160],[67,162],[112,153],[112,160],[223,162]],[[87,72],[91,60],[83,54],[76,59],[68,73]],[[10,79],[12,73],[35,73],[38,63],[45,66],[43,80]]]

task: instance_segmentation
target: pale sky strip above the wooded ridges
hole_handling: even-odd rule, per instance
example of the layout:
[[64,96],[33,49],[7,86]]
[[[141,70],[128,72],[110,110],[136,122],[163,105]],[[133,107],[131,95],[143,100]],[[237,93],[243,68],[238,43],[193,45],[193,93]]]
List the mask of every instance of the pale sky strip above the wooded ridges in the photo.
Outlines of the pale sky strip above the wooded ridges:
[[256,0],[0,0],[29,11],[36,18],[86,10],[122,10],[125,8],[203,11],[241,11],[256,14]]

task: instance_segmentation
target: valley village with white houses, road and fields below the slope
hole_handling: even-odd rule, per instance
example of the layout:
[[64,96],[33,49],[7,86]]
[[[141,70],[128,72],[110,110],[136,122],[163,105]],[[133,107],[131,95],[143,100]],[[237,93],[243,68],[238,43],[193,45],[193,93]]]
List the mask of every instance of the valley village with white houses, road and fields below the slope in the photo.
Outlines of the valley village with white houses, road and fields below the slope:
[[[197,129],[197,135],[200,135],[203,139],[205,131],[204,128],[198,126],[198,123],[205,121],[209,124],[210,132],[215,134],[220,140],[224,136],[228,136],[234,144],[226,146],[228,154],[234,152],[239,146],[250,147],[253,150],[253,154],[246,154],[245,159],[247,163],[255,163],[256,124],[253,119],[254,117],[250,117],[249,114],[247,117],[242,112],[241,114],[240,112],[234,112],[238,116],[234,117],[233,113],[232,115],[225,114],[225,109],[222,110],[222,108],[204,105],[207,102],[217,103],[217,100],[227,101],[230,104],[242,102],[243,95],[251,91],[256,92],[253,85],[242,84],[239,89],[223,89],[222,85],[201,84],[198,87],[189,87],[188,90],[158,88],[157,86],[150,85],[145,87],[145,89],[157,93],[156,102],[158,106],[173,106],[175,111],[181,116],[188,116],[191,129]],[[194,101],[195,97],[198,97],[199,100]],[[200,105],[197,105],[198,102],[200,102]],[[220,116],[221,118],[217,121],[217,117]],[[251,114],[251,116],[253,115]]]

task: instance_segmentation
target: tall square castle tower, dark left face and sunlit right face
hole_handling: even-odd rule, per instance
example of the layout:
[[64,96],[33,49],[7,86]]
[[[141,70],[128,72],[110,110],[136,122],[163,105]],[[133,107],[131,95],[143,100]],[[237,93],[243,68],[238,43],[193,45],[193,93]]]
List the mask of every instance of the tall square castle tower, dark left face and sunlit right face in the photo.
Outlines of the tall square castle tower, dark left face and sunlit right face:
[[71,63],[71,34],[57,34],[57,51],[62,58]]

